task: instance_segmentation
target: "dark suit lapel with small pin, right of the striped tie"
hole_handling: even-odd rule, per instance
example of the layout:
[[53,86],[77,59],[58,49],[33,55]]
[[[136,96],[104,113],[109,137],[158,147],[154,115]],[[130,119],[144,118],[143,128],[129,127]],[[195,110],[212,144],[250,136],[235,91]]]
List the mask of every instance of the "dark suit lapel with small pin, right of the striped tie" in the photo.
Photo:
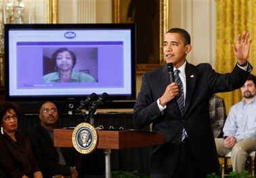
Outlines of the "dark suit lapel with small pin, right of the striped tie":
[[185,100],[185,109],[184,113],[188,110],[190,102],[192,100],[192,96],[194,93],[194,86],[196,84],[196,72],[194,65],[190,63],[186,64],[186,100]]

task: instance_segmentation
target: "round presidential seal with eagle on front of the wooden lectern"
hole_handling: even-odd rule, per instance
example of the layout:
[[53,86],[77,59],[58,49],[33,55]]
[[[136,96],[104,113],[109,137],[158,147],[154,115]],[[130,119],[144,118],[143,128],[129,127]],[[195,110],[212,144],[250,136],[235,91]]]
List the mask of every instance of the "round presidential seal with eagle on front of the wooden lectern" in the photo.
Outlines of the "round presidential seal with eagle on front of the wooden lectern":
[[98,133],[89,123],[80,123],[72,133],[74,148],[81,154],[89,154],[97,148]]

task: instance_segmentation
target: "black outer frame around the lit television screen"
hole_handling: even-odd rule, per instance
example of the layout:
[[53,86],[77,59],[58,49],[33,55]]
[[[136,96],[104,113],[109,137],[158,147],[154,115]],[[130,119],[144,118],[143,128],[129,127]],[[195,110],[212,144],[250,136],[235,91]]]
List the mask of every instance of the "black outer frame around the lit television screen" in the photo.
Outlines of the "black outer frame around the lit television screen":
[[131,30],[131,94],[127,95],[114,95],[111,94],[108,97],[108,100],[135,100],[136,91],[135,91],[135,49],[136,49],[136,36],[135,36],[135,24],[5,24],[5,100],[9,101],[44,101],[51,100],[54,102],[72,102],[77,100],[82,100],[89,96],[89,94],[85,95],[62,95],[62,96],[10,96],[9,95],[9,30],[79,30],[79,29],[98,29],[98,30],[106,30],[106,29],[116,29],[123,30],[129,29]]

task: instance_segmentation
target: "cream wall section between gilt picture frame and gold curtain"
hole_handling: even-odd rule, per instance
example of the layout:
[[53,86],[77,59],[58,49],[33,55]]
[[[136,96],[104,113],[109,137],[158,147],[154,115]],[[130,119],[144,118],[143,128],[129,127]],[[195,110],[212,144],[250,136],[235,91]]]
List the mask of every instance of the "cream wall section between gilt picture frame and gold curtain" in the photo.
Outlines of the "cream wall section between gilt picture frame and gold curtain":
[[192,51],[190,63],[215,64],[215,1],[170,0],[170,27],[185,28],[190,32]]

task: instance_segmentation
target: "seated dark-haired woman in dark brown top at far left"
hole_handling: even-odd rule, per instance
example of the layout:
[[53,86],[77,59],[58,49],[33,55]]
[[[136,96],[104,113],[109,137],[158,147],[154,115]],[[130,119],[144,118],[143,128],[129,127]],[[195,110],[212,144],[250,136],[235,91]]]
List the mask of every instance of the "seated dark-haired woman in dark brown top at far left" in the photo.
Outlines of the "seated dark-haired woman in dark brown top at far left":
[[15,105],[5,102],[1,106],[0,124],[0,167],[7,177],[43,177],[33,156],[30,140],[17,131],[18,114]]

